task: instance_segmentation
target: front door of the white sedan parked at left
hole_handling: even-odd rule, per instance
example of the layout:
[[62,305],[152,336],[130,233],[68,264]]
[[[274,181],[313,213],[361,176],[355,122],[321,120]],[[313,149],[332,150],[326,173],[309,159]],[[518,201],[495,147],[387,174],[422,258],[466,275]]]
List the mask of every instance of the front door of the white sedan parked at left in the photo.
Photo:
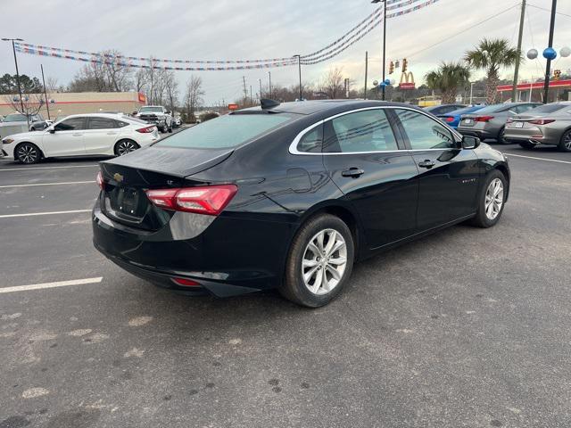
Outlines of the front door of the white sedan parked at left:
[[85,155],[85,120],[84,116],[65,119],[55,125],[54,133],[46,132],[42,140],[46,156]]

